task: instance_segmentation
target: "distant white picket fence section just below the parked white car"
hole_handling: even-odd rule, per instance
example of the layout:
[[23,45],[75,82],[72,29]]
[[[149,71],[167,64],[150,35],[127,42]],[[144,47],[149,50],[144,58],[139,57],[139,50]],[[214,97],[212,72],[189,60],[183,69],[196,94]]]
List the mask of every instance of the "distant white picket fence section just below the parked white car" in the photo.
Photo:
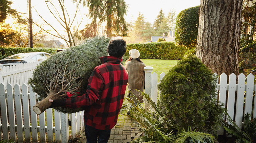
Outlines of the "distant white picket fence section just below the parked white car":
[[24,63],[13,66],[2,66],[0,67],[0,83],[7,84],[27,84],[28,79],[32,77],[36,65],[39,62]]

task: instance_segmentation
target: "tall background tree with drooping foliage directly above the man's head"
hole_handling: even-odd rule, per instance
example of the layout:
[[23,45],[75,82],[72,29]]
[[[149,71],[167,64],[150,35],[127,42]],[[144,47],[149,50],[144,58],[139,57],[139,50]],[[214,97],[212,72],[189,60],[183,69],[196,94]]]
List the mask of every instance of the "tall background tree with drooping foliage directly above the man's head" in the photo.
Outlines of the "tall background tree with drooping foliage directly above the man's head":
[[106,35],[127,36],[127,23],[124,20],[127,5],[124,0],[87,0],[89,16],[93,19],[92,23],[107,22]]

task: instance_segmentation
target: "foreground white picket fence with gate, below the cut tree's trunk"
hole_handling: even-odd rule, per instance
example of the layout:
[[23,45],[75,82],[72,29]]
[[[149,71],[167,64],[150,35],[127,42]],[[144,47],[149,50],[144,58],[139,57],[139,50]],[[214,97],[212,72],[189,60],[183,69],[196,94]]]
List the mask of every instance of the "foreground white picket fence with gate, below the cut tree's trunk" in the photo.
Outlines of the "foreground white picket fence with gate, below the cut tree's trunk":
[[[23,84],[22,88],[18,84],[14,85],[14,92],[11,84],[7,86],[3,83],[0,84],[0,133],[3,133],[0,135],[0,140],[13,139],[17,142],[39,141],[45,143],[55,141],[67,143],[70,130],[72,139],[84,131],[83,111],[64,114],[53,111],[50,108],[45,111],[46,113],[43,112],[37,115],[32,110],[36,103],[37,95],[26,84]],[[69,129],[68,125],[69,118],[71,120],[71,129]],[[55,134],[53,135],[53,133]],[[38,140],[38,135],[40,135],[40,140]]]

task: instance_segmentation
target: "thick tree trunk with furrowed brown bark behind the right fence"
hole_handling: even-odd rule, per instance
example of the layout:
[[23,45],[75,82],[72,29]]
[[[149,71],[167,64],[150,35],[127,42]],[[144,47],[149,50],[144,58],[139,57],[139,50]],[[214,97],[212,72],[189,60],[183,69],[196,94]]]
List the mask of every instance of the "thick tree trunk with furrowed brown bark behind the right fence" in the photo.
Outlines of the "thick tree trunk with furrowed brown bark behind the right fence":
[[218,75],[238,75],[243,0],[201,0],[196,55]]

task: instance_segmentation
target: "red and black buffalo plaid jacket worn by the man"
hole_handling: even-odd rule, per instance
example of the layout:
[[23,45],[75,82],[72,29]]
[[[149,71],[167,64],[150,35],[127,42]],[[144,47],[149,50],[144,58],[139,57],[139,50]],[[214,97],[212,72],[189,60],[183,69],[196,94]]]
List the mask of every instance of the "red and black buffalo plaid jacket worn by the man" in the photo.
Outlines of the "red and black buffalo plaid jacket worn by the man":
[[112,129],[123,104],[128,74],[115,56],[100,57],[102,64],[95,67],[88,82],[87,93],[67,99],[69,108],[85,107],[84,122],[99,130]]

